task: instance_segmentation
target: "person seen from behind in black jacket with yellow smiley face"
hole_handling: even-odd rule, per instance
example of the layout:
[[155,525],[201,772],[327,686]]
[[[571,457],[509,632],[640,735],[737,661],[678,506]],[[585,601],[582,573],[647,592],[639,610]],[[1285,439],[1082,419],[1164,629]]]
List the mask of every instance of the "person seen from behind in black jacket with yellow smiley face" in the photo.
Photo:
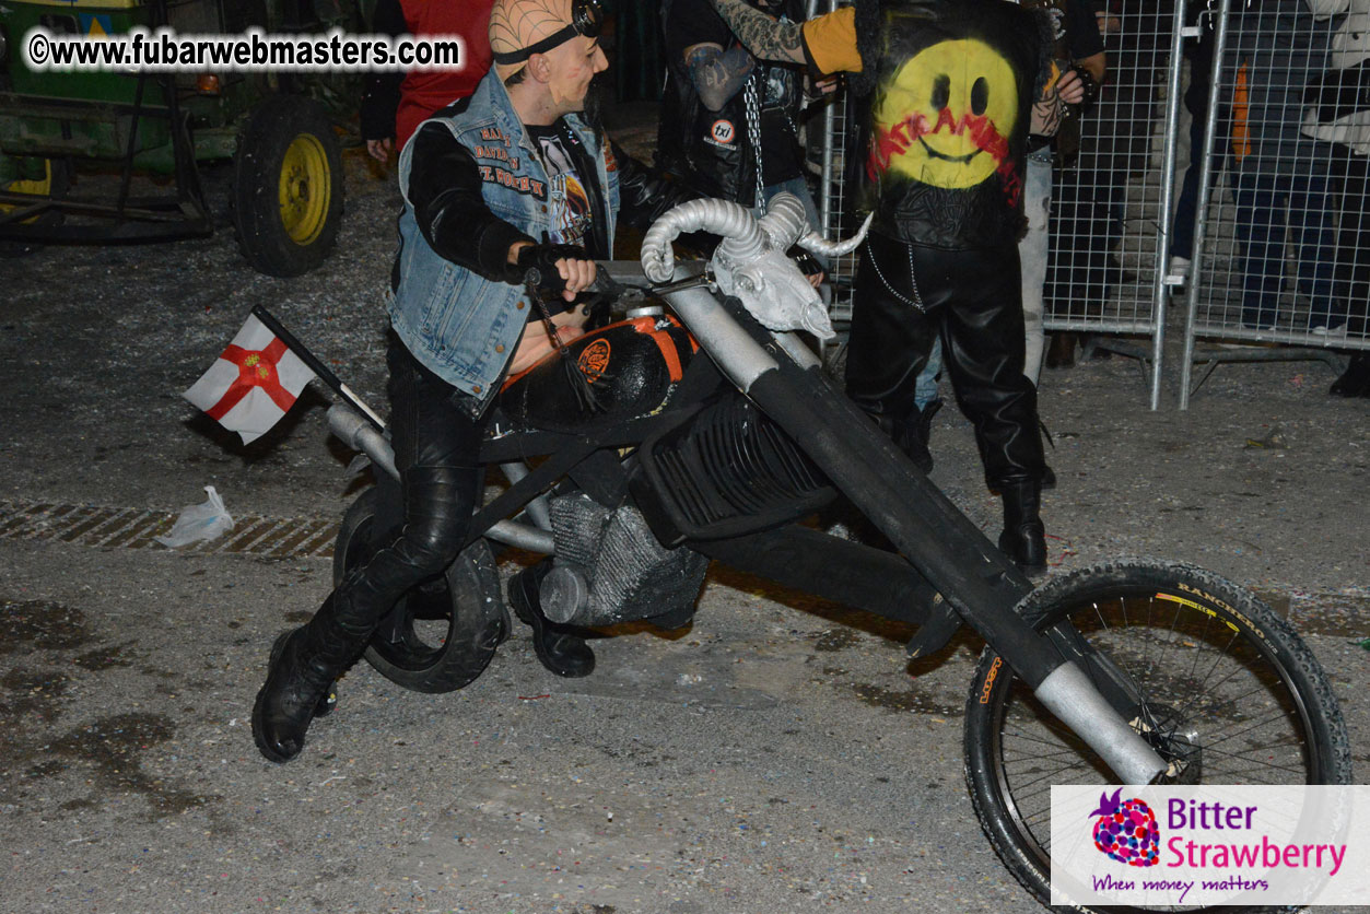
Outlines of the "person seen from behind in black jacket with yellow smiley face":
[[1006,0],[858,0],[803,23],[711,0],[756,58],[848,73],[863,206],[875,214],[852,303],[847,393],[907,452],[933,340],[1004,503],[999,547],[1047,566],[1037,392],[1023,374],[1018,240],[1029,132],[1084,99],[1040,11]]

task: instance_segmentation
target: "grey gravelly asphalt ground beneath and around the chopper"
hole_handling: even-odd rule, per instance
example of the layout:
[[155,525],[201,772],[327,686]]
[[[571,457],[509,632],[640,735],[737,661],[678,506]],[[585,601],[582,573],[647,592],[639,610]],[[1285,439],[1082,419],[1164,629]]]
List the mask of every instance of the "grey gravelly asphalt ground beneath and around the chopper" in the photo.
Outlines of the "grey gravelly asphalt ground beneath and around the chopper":
[[[359,151],[347,166],[338,252],[297,280],[251,273],[227,227],[0,262],[5,517],[174,514],[210,484],[236,514],[341,515],[351,455],[323,397],[242,447],[179,392],[264,304],[384,404],[397,193]],[[222,203],[225,175],[208,184]],[[1132,359],[1044,373],[1052,573],[1151,555],[1256,589],[1326,667],[1363,778],[1370,400],[1328,397],[1322,363],[1274,362],[1221,367],[1180,412],[1167,355],[1155,412]],[[934,481],[997,533],[954,407],[934,454]],[[910,665],[900,626],[717,570],[692,629],[600,640],[588,680],[547,674],[522,632],[453,695],[359,667],[301,759],[271,766],[252,695],[274,633],[327,592],[326,559],[5,529],[5,910],[1040,910],[962,781],[974,637]]]

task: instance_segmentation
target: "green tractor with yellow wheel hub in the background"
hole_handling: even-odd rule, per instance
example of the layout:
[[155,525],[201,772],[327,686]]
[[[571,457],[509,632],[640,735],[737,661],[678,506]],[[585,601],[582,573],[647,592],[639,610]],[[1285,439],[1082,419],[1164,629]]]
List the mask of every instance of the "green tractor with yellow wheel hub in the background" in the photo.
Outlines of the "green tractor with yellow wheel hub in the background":
[[315,34],[364,32],[364,15],[356,0],[3,0],[0,245],[207,236],[199,164],[232,159],[247,260],[277,277],[318,267],[342,218],[333,122],[355,110],[355,74],[34,73],[19,45],[38,26],[93,38],[137,26]]

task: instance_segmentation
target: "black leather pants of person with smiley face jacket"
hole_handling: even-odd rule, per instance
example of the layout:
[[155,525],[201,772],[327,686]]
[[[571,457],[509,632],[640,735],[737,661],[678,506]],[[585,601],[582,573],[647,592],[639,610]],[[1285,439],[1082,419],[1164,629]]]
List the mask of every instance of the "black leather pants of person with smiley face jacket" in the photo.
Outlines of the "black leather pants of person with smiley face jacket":
[[1037,391],[1023,377],[1017,245],[943,251],[871,233],[856,273],[847,395],[885,425],[917,421],[914,384],[938,333],[986,481],[1040,481],[1045,465]]

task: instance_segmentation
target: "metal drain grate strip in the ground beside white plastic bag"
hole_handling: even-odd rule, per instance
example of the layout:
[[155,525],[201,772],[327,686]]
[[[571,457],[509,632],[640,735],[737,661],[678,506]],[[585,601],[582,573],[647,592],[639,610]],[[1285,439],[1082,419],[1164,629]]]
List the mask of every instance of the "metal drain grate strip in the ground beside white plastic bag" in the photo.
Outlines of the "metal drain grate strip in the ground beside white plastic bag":
[[[144,511],[95,504],[52,504],[0,499],[0,540],[53,540],[99,548],[163,549],[153,537],[175,523],[171,511]],[[270,518],[244,514],[233,518],[232,530],[210,543],[186,545],[178,552],[212,555],[230,552],[269,559],[332,558],[336,521]]]

